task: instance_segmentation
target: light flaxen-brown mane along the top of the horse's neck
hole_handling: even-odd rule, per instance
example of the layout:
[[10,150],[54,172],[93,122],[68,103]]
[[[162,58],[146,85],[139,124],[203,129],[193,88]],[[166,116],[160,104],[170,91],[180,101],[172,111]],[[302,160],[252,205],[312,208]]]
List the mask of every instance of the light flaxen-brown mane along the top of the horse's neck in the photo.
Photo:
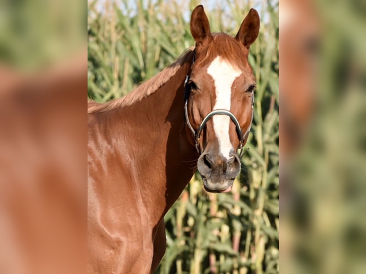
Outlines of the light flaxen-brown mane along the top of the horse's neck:
[[171,77],[173,77],[178,70],[188,61],[188,57],[193,52],[194,47],[190,47],[185,50],[180,57],[173,62],[173,64],[167,66],[163,71],[158,73],[156,76],[150,78],[145,81],[141,85],[139,85],[134,91],[130,92],[126,96],[122,98],[112,100],[107,103],[97,103],[93,100],[87,100],[87,113],[95,113],[95,112],[105,112],[117,109],[123,106],[130,106],[135,102],[141,101],[143,98],[146,98],[150,94],[153,94],[158,88],[166,84]]

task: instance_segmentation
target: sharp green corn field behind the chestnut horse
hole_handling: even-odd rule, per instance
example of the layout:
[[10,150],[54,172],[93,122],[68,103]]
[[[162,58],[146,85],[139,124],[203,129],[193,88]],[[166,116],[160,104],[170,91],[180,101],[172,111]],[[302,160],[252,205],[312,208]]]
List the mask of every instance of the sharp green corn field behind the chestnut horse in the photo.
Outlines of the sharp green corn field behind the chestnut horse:
[[88,1],[88,96],[124,96],[193,46],[198,4],[212,32],[235,35],[250,8],[261,17],[249,55],[257,79],[250,149],[231,193],[206,193],[199,174],[190,180],[165,216],[156,273],[279,273],[278,1]]

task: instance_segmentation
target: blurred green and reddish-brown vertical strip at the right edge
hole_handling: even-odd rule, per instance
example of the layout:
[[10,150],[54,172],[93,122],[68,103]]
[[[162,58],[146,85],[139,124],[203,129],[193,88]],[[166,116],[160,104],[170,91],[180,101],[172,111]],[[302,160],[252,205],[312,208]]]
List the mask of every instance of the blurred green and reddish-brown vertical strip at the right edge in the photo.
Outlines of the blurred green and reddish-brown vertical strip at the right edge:
[[366,273],[366,4],[279,12],[281,273]]

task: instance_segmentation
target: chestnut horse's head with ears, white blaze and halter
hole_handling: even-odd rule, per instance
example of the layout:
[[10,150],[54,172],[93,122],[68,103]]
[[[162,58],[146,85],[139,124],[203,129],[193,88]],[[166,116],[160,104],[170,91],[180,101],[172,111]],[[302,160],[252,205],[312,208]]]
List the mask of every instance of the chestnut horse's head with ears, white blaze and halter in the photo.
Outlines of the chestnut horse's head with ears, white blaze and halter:
[[255,77],[249,47],[259,32],[250,9],[235,37],[211,33],[202,5],[191,15],[195,55],[186,81],[187,134],[194,134],[198,171],[207,191],[231,190],[240,172],[240,155],[253,119]]

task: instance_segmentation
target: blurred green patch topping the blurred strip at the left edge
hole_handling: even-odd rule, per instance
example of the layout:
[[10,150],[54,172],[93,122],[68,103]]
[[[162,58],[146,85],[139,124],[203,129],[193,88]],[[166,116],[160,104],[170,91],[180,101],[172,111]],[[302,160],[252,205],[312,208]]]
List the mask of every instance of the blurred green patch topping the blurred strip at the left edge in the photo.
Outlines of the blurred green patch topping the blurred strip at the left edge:
[[4,0],[0,18],[1,66],[26,72],[49,69],[85,47],[85,4]]

